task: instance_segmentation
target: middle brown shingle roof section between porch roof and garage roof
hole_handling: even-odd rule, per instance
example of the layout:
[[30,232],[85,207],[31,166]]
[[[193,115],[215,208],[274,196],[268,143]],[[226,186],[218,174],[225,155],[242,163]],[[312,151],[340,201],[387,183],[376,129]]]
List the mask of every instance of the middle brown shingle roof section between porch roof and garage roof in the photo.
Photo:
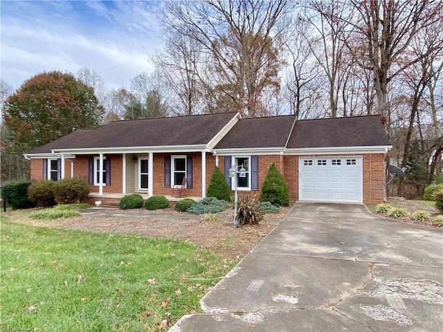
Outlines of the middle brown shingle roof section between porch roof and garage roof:
[[246,118],[221,138],[215,149],[284,147],[296,116]]

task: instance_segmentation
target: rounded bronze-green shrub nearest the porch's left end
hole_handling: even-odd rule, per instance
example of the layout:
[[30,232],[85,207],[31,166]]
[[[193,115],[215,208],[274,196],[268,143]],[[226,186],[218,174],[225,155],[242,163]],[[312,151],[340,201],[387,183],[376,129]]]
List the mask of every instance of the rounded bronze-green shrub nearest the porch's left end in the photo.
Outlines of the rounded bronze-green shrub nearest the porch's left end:
[[64,178],[54,182],[54,198],[58,204],[80,203],[88,194],[89,185],[82,178]]

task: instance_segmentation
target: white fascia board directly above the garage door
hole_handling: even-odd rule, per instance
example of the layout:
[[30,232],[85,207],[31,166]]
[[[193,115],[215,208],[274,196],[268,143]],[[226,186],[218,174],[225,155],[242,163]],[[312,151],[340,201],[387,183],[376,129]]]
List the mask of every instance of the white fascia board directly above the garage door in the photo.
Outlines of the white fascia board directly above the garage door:
[[302,156],[306,154],[384,154],[392,145],[374,147],[305,147],[299,149],[285,149],[284,155]]

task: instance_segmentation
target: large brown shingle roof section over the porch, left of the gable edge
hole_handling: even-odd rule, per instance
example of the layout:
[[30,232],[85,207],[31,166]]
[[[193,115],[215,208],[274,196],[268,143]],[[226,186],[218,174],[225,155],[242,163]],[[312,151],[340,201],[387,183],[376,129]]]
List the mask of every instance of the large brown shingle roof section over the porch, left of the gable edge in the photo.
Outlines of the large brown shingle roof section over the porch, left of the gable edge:
[[114,121],[97,129],[74,131],[30,151],[29,154],[51,153],[52,149],[206,145],[236,114],[230,112]]

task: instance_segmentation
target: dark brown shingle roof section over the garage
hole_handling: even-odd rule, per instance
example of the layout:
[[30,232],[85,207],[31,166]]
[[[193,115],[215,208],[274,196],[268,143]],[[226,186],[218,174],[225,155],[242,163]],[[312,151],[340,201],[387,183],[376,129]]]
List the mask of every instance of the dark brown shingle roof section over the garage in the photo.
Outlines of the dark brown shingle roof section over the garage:
[[287,148],[390,145],[380,116],[298,120]]

